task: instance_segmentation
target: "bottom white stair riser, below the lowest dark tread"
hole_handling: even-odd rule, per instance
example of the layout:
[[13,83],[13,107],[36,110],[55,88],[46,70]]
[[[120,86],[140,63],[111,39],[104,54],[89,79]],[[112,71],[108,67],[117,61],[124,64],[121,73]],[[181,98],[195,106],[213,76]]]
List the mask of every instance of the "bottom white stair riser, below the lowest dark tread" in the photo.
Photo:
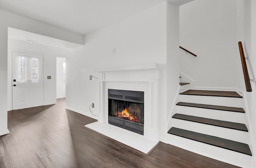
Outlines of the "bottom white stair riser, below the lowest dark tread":
[[220,160],[229,164],[240,166],[243,168],[251,168],[252,156],[234,152],[224,148],[204,144],[195,140],[182,138],[180,136],[168,134],[168,143],[197,154],[204,155],[209,158]]

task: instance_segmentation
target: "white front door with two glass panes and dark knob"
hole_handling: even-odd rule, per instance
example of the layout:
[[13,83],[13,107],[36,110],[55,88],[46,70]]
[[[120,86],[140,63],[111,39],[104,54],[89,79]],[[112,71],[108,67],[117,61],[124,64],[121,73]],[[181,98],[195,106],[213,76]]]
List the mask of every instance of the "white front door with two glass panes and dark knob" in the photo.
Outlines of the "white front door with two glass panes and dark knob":
[[12,52],[12,109],[44,104],[43,55]]

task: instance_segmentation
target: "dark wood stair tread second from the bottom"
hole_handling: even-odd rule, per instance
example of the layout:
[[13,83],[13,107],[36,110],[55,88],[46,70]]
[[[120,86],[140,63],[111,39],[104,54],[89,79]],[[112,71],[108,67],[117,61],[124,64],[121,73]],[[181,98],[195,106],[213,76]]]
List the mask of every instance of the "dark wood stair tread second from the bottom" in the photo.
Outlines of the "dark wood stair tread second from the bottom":
[[203,117],[195,117],[195,116],[191,116],[191,115],[182,115],[182,114],[175,114],[172,116],[172,118],[248,132],[246,125],[240,124],[240,123],[207,119],[207,118],[203,118]]

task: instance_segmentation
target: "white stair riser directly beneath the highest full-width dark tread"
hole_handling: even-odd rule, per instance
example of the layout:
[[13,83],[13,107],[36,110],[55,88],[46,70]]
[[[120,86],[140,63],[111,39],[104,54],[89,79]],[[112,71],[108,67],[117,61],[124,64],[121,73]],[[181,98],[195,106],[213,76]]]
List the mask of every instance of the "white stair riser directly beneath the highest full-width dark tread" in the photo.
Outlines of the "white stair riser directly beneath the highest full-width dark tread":
[[218,105],[227,107],[244,107],[243,99],[234,97],[180,95],[180,102],[198,103],[204,105]]

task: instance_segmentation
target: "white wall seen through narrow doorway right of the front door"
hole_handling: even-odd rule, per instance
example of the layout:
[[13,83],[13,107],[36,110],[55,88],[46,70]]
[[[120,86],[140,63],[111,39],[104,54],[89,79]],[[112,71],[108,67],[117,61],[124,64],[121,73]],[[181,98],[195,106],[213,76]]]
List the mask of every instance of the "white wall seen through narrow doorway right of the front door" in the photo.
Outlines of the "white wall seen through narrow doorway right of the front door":
[[66,83],[64,83],[63,63],[66,58],[56,57],[56,98],[66,97]]

